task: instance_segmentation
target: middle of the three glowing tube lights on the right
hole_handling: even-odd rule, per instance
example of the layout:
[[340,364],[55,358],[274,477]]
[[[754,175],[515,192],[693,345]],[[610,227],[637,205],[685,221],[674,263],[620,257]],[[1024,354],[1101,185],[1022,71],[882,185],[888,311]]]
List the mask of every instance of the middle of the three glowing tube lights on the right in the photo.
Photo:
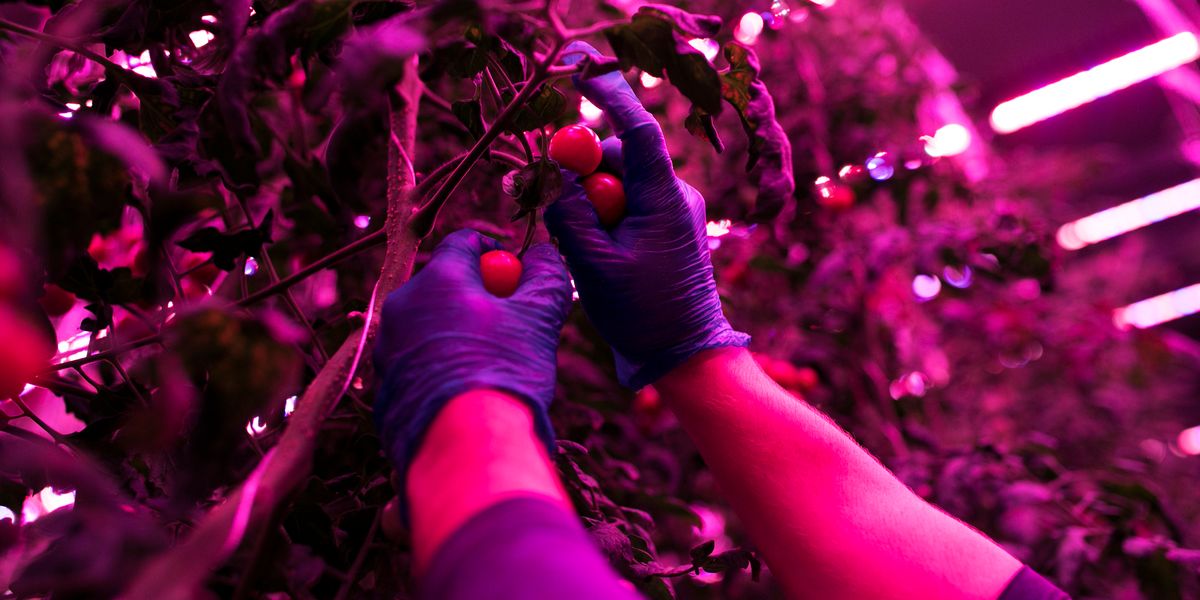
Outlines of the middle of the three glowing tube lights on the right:
[[1200,179],[1102,210],[1058,228],[1058,245],[1079,250],[1200,208]]

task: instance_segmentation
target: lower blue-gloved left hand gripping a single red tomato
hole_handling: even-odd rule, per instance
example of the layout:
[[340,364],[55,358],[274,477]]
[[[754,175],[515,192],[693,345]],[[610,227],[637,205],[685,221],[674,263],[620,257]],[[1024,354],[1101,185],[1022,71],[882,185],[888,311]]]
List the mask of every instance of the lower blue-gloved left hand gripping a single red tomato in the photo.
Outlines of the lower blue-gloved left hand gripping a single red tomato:
[[[524,256],[516,293],[497,298],[484,289],[479,257],[498,247],[478,232],[455,232],[384,304],[374,348],[380,378],[374,419],[402,486],[433,418],[470,390],[502,390],[522,400],[538,437],[553,448],[546,412],[554,398],[570,280],[558,251],[539,244]],[[403,506],[407,499],[398,492]]]

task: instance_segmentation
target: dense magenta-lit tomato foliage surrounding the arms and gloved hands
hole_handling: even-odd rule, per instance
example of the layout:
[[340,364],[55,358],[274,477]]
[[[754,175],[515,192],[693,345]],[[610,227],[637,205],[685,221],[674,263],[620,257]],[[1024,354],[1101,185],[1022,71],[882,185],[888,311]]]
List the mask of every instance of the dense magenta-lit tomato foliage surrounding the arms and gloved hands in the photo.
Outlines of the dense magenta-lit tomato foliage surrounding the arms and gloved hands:
[[[419,264],[460,227],[514,250],[545,238],[534,220],[554,169],[529,156],[580,104],[558,74],[527,84],[563,31],[619,52],[572,68],[628,71],[680,176],[730,220],[712,232],[718,281],[769,374],[1076,598],[1200,595],[1198,466],[1168,442],[1195,420],[1200,353],[1112,326],[1111,282],[1139,248],[1068,269],[1052,244],[1103,156],[1002,156],[977,133],[967,154],[929,158],[919,137],[964,119],[970,90],[892,1],[776,2],[757,61],[726,46],[724,71],[688,40],[727,42],[770,6],[0,6],[0,227],[28,280],[7,302],[70,360],[0,406],[0,505],[18,515],[0,520],[6,595],[412,594],[372,374],[343,368],[358,361],[340,348],[370,334],[388,257],[407,247]],[[413,109],[415,128],[397,126]],[[468,149],[479,162],[457,173]],[[890,178],[839,176],[877,152]],[[436,200],[403,230],[385,224],[403,221],[396,190]],[[918,275],[936,298],[914,295]],[[622,575],[653,598],[775,594],[695,448],[653,390],[614,383],[578,310],[559,365],[556,463]],[[328,413],[306,413],[322,394]],[[313,444],[311,469],[300,460],[290,493],[256,497],[269,469],[254,466],[288,455],[292,431]],[[42,514],[46,487],[73,490],[71,510]],[[217,509],[247,493],[266,508],[240,544],[205,545],[228,533],[206,524]]]

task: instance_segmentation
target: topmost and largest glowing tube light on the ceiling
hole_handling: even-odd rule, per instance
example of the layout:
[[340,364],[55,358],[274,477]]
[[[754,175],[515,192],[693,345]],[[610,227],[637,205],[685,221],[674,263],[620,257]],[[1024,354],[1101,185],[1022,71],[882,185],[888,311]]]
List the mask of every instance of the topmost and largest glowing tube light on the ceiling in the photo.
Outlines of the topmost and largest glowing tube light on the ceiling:
[[991,112],[991,127],[997,133],[1012,133],[1187,65],[1198,58],[1200,58],[1200,42],[1195,34],[1190,31],[1176,34],[1045,88],[1002,102]]

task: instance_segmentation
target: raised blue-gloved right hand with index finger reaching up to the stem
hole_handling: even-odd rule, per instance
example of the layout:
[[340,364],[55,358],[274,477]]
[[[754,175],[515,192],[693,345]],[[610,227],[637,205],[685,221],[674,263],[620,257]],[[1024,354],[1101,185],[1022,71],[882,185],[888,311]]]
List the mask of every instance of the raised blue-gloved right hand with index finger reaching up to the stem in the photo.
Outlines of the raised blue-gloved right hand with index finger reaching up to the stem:
[[[564,62],[588,44],[566,48]],[[748,346],[721,312],[708,256],[704,198],[676,178],[662,130],[619,72],[575,80],[620,138],[626,215],[606,230],[577,176],[563,173],[563,194],[546,208],[588,318],[613,348],[617,376],[638,389],[694,354]],[[605,158],[617,154],[605,143]]]

